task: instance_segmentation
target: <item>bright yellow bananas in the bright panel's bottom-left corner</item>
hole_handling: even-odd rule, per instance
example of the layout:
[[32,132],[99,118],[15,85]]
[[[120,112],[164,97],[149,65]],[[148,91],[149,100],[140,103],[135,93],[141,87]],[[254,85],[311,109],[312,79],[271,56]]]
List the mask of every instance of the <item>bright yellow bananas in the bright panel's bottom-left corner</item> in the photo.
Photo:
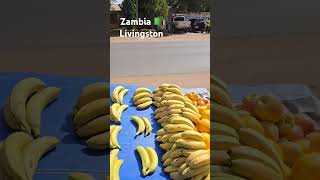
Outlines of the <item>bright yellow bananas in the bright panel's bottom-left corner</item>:
[[119,149],[113,149],[110,152],[110,180],[120,180],[119,171],[123,160],[118,159],[118,153]]

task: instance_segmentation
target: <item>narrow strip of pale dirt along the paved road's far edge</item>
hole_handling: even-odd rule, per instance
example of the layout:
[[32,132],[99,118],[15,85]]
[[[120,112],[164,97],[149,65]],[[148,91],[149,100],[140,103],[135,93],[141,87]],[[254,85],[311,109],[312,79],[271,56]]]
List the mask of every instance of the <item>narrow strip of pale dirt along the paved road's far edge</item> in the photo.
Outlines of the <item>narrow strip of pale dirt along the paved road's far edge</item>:
[[165,36],[162,38],[123,38],[123,37],[111,37],[110,43],[130,43],[130,42],[167,42],[167,41],[199,41],[207,40],[210,38],[208,33],[186,33],[186,34],[172,34],[171,36]]

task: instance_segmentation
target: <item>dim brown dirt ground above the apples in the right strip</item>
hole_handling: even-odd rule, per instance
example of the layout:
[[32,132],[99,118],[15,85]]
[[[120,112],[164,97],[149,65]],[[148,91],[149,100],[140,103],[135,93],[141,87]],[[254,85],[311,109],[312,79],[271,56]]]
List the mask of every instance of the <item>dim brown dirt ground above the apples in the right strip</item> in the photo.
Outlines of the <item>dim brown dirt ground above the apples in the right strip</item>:
[[301,83],[320,97],[320,33],[218,37],[214,41],[211,70],[225,81]]

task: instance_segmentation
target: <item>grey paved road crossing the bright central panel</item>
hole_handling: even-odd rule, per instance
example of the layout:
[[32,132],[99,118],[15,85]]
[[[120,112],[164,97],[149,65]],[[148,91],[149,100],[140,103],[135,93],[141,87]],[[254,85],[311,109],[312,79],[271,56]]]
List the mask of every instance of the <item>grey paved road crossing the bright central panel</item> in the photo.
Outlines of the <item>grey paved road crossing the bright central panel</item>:
[[111,44],[111,77],[210,71],[210,41]]

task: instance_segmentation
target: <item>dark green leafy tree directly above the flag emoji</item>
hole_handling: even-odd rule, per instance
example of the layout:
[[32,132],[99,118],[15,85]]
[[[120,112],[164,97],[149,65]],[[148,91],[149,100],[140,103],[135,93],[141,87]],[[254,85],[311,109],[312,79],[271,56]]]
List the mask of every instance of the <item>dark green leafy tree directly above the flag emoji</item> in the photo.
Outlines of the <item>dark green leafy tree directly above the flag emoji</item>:
[[167,0],[139,0],[139,12],[142,12],[143,17],[147,19],[166,18],[168,11]]

